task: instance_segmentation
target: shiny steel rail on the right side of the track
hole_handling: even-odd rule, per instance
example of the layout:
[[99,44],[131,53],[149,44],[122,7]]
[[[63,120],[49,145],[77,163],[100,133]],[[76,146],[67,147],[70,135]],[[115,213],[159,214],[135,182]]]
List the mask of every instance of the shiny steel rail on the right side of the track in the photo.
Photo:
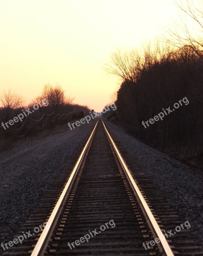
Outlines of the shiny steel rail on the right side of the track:
[[134,178],[132,177],[128,167],[126,166],[125,161],[123,160],[123,157],[121,156],[120,152],[118,151],[114,141],[112,140],[112,137],[110,136],[109,132],[106,129],[106,126],[102,120],[103,123],[103,127],[104,130],[106,132],[107,137],[109,138],[110,142],[112,143],[112,146],[114,148],[114,151],[117,155],[117,158],[123,168],[123,171],[126,174],[127,179],[129,180],[129,183],[132,187],[132,190],[137,198],[137,201],[140,204],[140,207],[143,211],[143,214],[145,215],[147,224],[149,225],[150,230],[152,231],[152,234],[154,236],[154,240],[156,238],[159,238],[160,243],[157,243],[157,246],[159,247],[160,253],[162,253],[162,255],[165,256],[174,256],[174,253],[171,250],[171,247],[169,246],[165,235],[162,233],[162,231],[160,230],[160,227],[157,223],[157,221],[155,220],[152,211],[149,209],[148,204],[146,203],[142,193],[140,192],[140,189],[138,188],[137,184],[134,181]]

